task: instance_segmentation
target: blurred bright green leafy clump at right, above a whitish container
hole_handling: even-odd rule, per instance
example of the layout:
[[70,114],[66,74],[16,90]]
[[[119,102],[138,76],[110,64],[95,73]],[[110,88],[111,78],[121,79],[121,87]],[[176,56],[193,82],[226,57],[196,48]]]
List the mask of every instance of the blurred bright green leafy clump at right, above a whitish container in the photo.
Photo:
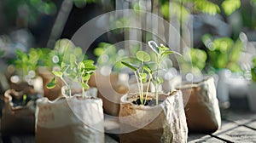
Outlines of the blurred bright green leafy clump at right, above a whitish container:
[[237,39],[236,42],[230,37],[212,40],[212,37],[207,34],[202,37],[202,40],[207,47],[209,66],[214,69],[228,68],[232,72],[241,71],[241,67],[237,63],[243,49],[240,39]]

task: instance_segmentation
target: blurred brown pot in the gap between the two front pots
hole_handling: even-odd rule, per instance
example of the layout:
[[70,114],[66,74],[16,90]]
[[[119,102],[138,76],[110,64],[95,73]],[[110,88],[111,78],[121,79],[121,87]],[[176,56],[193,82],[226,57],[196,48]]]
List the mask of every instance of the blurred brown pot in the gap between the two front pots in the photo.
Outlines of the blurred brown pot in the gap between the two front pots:
[[90,87],[98,89],[97,96],[103,101],[103,111],[108,115],[119,116],[120,98],[128,92],[124,83],[119,83],[119,74],[111,73],[108,76],[96,72],[90,77]]

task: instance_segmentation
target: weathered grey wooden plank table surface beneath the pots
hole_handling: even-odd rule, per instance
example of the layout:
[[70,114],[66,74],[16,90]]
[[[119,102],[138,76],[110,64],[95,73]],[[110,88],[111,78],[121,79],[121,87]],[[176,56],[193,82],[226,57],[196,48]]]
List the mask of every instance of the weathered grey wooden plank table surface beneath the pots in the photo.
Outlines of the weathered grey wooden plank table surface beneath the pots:
[[[212,134],[189,134],[189,143],[218,143],[218,142],[234,142],[234,143],[256,143],[256,113],[246,111],[233,111],[227,110],[222,112],[222,125],[218,131]],[[108,117],[106,120],[106,129],[113,130],[118,129],[118,123]],[[12,143],[33,143],[34,136],[11,136]],[[3,142],[3,140],[0,140]],[[118,134],[107,134],[105,135],[106,143],[118,143]]]

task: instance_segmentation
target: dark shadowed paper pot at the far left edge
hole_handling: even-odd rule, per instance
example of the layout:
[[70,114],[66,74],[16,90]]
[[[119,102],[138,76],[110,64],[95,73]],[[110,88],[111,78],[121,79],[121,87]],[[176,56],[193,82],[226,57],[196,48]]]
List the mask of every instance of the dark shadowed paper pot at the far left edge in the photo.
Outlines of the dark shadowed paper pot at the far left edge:
[[4,93],[4,107],[1,118],[1,133],[34,134],[35,132],[35,104],[31,100],[22,103],[23,92],[9,89]]

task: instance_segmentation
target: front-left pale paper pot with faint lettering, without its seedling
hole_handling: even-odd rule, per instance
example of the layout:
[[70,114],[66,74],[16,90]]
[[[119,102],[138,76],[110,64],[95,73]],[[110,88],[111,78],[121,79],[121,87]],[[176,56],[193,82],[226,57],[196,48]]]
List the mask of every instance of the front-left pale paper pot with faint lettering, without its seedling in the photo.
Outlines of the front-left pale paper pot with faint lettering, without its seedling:
[[[96,94],[89,89],[85,94]],[[36,142],[104,142],[102,100],[94,97],[59,97],[37,101]]]

